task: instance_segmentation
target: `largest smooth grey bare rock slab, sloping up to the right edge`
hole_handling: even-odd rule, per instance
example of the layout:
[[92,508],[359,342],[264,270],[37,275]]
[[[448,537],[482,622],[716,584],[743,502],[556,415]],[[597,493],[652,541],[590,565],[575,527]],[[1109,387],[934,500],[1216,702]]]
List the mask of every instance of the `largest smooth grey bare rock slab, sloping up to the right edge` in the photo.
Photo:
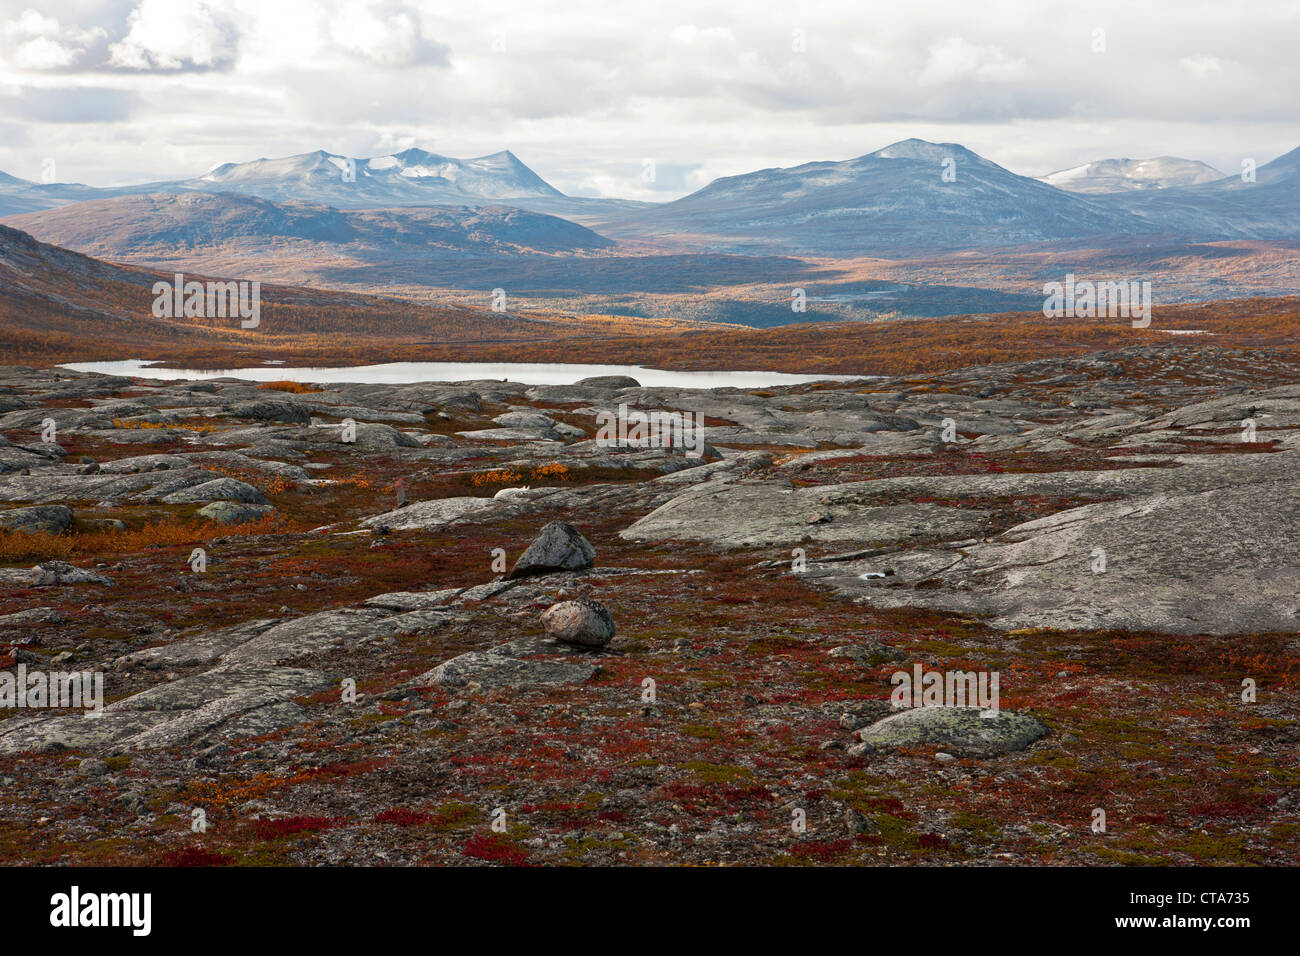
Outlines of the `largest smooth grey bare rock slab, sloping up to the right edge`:
[[842,584],[875,606],[985,614],[1002,630],[1291,632],[1297,551],[1288,479],[1070,509],[956,551],[889,555],[885,587]]

